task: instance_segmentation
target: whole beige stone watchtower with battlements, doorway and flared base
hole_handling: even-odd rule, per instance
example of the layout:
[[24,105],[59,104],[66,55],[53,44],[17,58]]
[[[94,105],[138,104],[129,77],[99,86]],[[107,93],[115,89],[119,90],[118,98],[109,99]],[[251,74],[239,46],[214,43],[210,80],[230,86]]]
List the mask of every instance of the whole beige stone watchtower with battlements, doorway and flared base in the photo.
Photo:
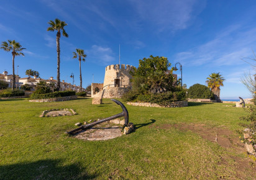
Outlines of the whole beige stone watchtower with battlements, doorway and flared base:
[[[91,97],[120,98],[131,86],[130,65],[109,65],[105,69],[103,84],[91,84]],[[99,91],[99,92],[98,92]]]

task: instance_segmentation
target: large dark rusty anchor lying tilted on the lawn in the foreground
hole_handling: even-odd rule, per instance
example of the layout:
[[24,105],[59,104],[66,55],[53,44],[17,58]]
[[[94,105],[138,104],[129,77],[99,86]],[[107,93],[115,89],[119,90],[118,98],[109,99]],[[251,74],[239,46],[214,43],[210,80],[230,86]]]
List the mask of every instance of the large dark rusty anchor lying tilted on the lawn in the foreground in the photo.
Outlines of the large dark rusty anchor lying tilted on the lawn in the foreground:
[[116,102],[116,104],[120,105],[122,107],[122,112],[116,115],[112,115],[111,117],[107,117],[105,119],[101,119],[101,120],[97,120],[95,122],[92,122],[90,124],[86,124],[86,125],[82,125],[81,127],[75,128],[74,130],[68,131],[66,132],[67,134],[73,135],[81,130],[86,130],[87,128],[93,127],[94,125],[97,124],[101,124],[103,122],[112,120],[112,119],[116,119],[117,117],[122,117],[124,116],[124,125],[127,126],[128,122],[129,122],[129,114],[128,111],[126,109],[126,107],[124,106],[124,104],[122,104],[122,102],[117,101],[116,99],[111,99],[111,101]]

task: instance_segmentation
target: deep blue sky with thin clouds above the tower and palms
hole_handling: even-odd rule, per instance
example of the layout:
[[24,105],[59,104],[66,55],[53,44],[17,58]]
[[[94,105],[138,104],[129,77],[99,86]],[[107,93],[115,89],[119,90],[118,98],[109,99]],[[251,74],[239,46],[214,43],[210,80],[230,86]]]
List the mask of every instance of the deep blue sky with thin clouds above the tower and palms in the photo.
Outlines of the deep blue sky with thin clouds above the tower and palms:
[[[60,78],[80,84],[75,48],[85,50],[83,86],[103,83],[107,65],[139,65],[144,57],[165,56],[172,66],[183,65],[183,83],[206,84],[209,74],[226,79],[222,99],[250,97],[240,78],[249,70],[242,60],[256,51],[255,1],[1,1],[0,41],[16,40],[26,48],[15,68],[39,71],[40,77],[57,76],[56,32],[47,32],[48,21],[58,18],[68,25],[69,37],[60,38]],[[0,50],[0,71],[12,74],[11,53]],[[176,71],[180,76],[180,71]]]

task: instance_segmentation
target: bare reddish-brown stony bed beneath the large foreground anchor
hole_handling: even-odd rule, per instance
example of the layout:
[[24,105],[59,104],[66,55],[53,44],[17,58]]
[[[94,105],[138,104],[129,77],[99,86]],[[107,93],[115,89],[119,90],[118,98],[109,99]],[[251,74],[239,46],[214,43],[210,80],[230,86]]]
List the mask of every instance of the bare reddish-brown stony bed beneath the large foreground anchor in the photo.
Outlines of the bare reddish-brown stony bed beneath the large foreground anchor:
[[74,135],[75,138],[88,141],[109,140],[121,136],[122,133],[120,125],[113,125],[107,123],[95,125],[92,128],[83,130],[80,133]]

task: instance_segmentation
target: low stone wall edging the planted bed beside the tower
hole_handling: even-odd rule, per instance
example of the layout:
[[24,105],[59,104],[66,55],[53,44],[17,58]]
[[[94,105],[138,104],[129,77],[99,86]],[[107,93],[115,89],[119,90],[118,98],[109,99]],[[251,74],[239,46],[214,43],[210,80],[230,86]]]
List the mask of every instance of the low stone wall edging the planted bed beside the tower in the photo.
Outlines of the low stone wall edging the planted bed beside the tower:
[[171,104],[169,104],[168,106],[160,106],[159,104],[151,103],[151,102],[127,102],[127,104],[132,106],[145,106],[145,107],[187,107],[188,101],[171,102]]

